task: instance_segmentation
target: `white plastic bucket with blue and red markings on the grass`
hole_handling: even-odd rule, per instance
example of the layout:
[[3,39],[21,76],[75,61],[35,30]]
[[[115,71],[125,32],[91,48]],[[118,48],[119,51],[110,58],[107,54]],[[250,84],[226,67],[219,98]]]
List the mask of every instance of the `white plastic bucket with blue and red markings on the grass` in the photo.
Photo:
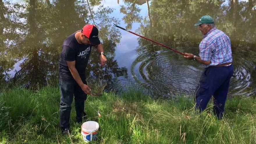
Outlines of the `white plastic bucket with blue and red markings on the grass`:
[[87,121],[81,127],[81,134],[85,142],[94,141],[97,139],[97,132],[99,129],[98,122]]

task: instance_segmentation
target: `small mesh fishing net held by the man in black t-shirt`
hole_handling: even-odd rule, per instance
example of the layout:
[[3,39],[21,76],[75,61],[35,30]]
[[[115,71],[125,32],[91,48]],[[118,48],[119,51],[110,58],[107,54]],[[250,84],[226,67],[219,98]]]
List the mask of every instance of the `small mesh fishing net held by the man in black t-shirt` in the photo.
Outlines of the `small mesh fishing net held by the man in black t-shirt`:
[[86,79],[87,85],[90,87],[91,96],[99,97],[103,94],[103,90],[107,85],[107,82],[104,80],[102,69],[98,70],[90,77]]

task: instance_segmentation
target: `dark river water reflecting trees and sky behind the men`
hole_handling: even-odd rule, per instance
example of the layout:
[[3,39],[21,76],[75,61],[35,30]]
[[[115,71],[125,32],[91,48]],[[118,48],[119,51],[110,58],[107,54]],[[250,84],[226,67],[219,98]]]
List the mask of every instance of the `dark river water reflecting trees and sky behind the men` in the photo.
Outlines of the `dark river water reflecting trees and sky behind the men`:
[[[56,84],[62,42],[95,24],[108,62],[106,90],[135,84],[153,97],[193,95],[204,66],[142,39],[113,23],[181,52],[198,55],[202,34],[193,26],[202,15],[231,40],[234,77],[229,96],[256,92],[255,0],[1,0],[1,87]],[[86,75],[99,70],[94,49]]]

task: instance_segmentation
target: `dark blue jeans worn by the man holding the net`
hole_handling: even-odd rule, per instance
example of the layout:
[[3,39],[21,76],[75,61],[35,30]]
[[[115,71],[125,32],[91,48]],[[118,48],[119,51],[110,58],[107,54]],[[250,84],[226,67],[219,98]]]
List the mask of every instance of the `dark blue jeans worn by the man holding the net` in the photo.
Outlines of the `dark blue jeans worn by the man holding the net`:
[[[87,84],[85,78],[81,77],[81,79],[84,84]],[[59,78],[59,87],[61,91],[59,125],[61,129],[66,129],[70,127],[69,119],[73,98],[75,99],[75,109],[77,113],[76,120],[77,122],[82,122],[83,116],[86,116],[84,112],[84,101],[87,95],[74,79]]]

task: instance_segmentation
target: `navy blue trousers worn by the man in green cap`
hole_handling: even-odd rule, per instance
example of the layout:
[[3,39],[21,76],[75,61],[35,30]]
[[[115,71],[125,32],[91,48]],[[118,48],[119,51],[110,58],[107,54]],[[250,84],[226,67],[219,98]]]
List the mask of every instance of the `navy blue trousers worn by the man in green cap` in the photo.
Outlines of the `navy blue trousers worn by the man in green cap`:
[[230,65],[208,67],[204,70],[195,91],[196,110],[204,111],[213,96],[213,113],[218,119],[222,118],[233,69],[233,65]]

